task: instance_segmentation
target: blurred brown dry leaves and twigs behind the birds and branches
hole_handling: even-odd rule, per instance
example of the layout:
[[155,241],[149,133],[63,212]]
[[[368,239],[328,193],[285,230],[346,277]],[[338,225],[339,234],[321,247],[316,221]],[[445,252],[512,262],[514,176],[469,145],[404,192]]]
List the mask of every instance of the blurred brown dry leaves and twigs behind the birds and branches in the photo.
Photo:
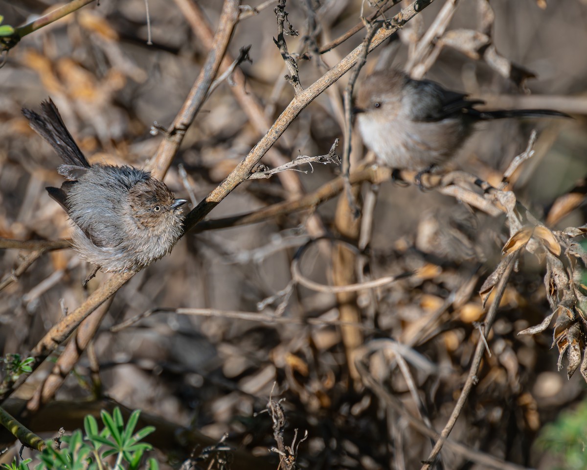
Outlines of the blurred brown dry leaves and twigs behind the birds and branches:
[[[29,129],[21,115],[23,106],[37,109],[50,96],[90,162],[141,167],[154,155],[164,137],[151,135],[151,125],[171,123],[209,50],[201,36],[205,26],[185,13],[181,6],[186,3],[193,3],[194,11],[201,13],[197,18],[215,31],[222,6],[217,0],[149,0],[152,44],[147,43],[144,0],[100,0],[25,36],[5,56],[0,69],[0,237],[69,236],[66,214],[44,189],[60,184],[60,162]],[[491,108],[552,108],[575,117],[485,123],[453,168],[498,186],[536,129],[535,155],[511,178],[509,189],[551,229],[583,226],[587,2],[447,4],[454,5],[454,16],[447,21],[452,35],[444,36],[446,46],[424,68],[427,78],[482,97]],[[50,0],[4,0],[2,24],[21,25],[56,5]],[[190,209],[247,155],[294,96],[273,40],[275,5],[251,0],[258,11],[242,8],[229,47],[236,58],[239,49],[251,45],[252,63],[240,65],[244,90],[258,103],[268,125],[261,129],[262,124],[252,122],[251,109],[244,108],[235,91],[237,79],[228,78],[214,90],[187,130],[165,179],[177,197],[191,200]],[[365,14],[375,11],[359,0],[286,3],[288,21],[299,35],[285,39],[304,88],[362,42],[363,31],[332,51],[318,52],[359,23],[362,8]],[[357,86],[375,66],[403,68],[443,8],[442,0],[433,2],[370,54]],[[482,35],[492,41],[483,45]],[[478,41],[479,47],[472,48],[465,39]],[[483,60],[489,44],[510,73],[500,75]],[[522,79],[526,70],[536,78]],[[349,75],[303,110],[278,141],[276,152],[291,160],[324,155],[336,138],[342,142],[342,92]],[[353,134],[352,169],[370,158]],[[273,166],[270,160],[265,163]],[[314,164],[313,171],[297,177],[303,192],[311,193],[339,174],[338,166]],[[281,407],[286,445],[291,445],[294,429],[300,430],[298,441],[308,431],[296,456],[303,468],[419,468],[430,452],[430,439],[384,397],[398,400],[436,431],[443,428],[479,341],[476,322],[484,320],[487,310],[478,291],[499,263],[508,232],[504,217],[473,210],[434,190],[392,182],[381,184],[375,193],[372,189],[364,184],[356,193],[365,205],[376,196],[372,232],[362,242],[365,227],[349,217],[345,193],[311,211],[188,233],[170,256],[140,271],[116,294],[90,354],[76,362],[53,407],[48,404],[36,413],[36,428],[35,417],[27,418],[31,430],[49,439],[62,426],[69,433],[83,427],[84,415],[95,414],[100,406],[107,407],[105,400],[112,400],[107,403],[138,408],[141,416],[160,419],[154,424],[160,440],[149,441],[152,435],[146,440],[156,448],[149,455],[161,468],[177,468],[193,448],[199,452],[227,432],[227,443],[240,452],[233,458],[234,468],[277,468],[278,456],[268,450],[276,445],[274,419],[269,413],[256,414],[271,396],[285,398]],[[252,180],[237,187],[210,217],[255,212],[292,197],[296,195],[278,177]],[[318,230],[312,225],[316,220]],[[363,243],[365,256],[349,257],[342,244],[314,243],[301,259],[303,273],[313,280],[349,284],[412,270],[420,274],[350,296],[292,287],[296,249],[321,233],[353,245]],[[27,254],[0,251],[2,280],[11,277]],[[5,357],[18,353],[25,358],[66,311],[83,302],[87,291],[82,280],[88,269],[72,250],[50,251],[4,286],[0,348]],[[552,328],[518,335],[551,313],[544,274],[544,264],[528,253],[521,256],[487,337],[491,357],[485,355],[450,438],[477,449],[478,455],[512,462],[507,468],[587,468],[581,425],[585,420],[580,418],[585,415],[585,380],[580,374],[568,380],[565,370],[558,371]],[[99,273],[90,291],[104,277]],[[110,330],[153,308],[168,311],[124,330]],[[173,311],[177,308],[210,310],[190,315]],[[222,311],[259,311],[286,320],[244,320]],[[62,348],[55,357],[60,353]],[[364,370],[357,370],[355,360]],[[18,412],[42,387],[54,361],[49,358],[18,388],[12,397],[21,400]],[[563,365],[565,369],[566,362]],[[411,374],[406,375],[404,366]],[[410,391],[411,385],[417,390]],[[184,447],[163,445],[164,434],[170,438],[186,428],[197,436],[191,435]],[[9,436],[2,442],[12,444]],[[19,447],[12,445],[0,462],[11,462]],[[452,447],[445,447],[441,456],[437,468],[492,468],[478,459],[473,463]]]

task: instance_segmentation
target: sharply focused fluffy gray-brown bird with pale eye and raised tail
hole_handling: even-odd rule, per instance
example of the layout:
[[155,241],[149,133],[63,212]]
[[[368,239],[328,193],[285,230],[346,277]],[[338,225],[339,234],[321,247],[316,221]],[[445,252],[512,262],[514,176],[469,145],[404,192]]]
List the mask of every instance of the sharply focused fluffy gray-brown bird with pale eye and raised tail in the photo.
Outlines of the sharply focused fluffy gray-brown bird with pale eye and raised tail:
[[90,165],[65,127],[52,100],[41,103],[41,115],[22,109],[29,124],[50,143],[65,164],[58,172],[66,182],[47,187],[49,196],[68,213],[73,246],[109,273],[138,270],[173,248],[181,235],[181,209],[165,183],[131,166]]

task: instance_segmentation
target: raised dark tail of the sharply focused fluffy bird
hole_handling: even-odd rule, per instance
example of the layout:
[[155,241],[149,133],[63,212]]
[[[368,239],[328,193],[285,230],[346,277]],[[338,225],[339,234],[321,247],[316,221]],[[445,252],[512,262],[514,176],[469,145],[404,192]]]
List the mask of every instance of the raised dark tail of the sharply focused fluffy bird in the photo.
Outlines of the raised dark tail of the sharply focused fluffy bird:
[[51,99],[41,103],[41,115],[26,108],[22,108],[22,114],[29,120],[32,129],[50,143],[63,162],[68,165],[90,168],[90,164],[65,127],[59,110]]

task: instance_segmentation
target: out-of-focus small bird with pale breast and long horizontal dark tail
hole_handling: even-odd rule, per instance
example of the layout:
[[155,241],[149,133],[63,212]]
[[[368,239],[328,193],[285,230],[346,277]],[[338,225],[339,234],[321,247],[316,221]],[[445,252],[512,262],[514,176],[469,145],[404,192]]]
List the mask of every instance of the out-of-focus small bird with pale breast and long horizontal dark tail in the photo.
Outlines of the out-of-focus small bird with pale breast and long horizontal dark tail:
[[480,111],[482,100],[414,80],[400,70],[367,76],[356,99],[363,142],[382,163],[424,172],[454,156],[480,120],[505,117],[571,117],[549,109]]

